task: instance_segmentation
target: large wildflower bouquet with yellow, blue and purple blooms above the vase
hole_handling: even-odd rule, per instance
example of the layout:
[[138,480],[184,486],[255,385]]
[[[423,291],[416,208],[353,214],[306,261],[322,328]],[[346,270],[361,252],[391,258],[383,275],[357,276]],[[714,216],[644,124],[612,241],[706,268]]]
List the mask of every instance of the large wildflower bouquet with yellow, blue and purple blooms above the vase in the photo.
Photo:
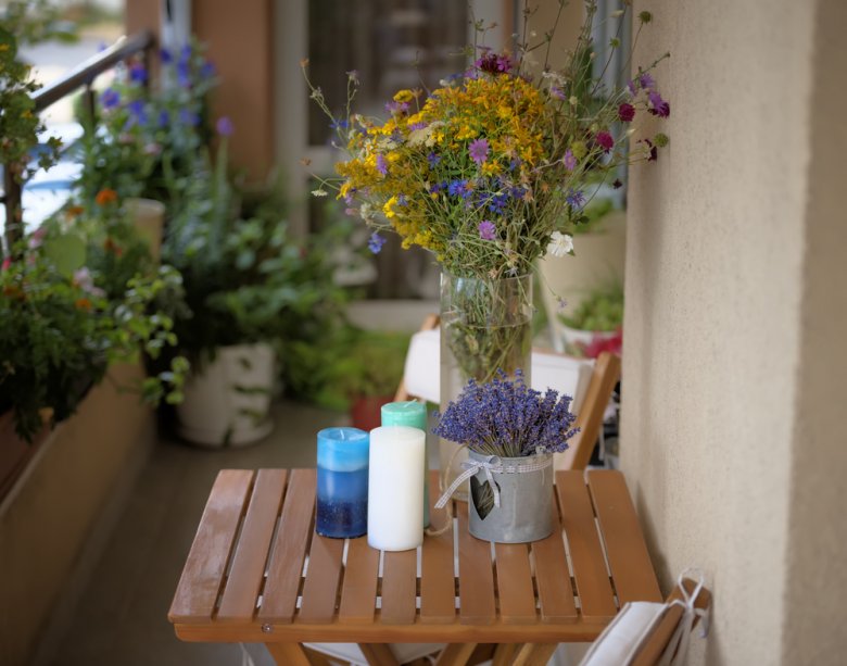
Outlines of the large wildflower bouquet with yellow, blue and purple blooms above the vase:
[[[333,116],[306,75],[349,155],[336,165],[341,180],[323,180],[313,193],[336,188],[349,212],[376,229],[372,251],[383,242],[379,231],[391,229],[404,248],[430,250],[456,276],[523,275],[545,252],[572,251],[569,231],[583,222],[586,178],[604,180],[620,164],[653,161],[668,141],[643,135],[627,151],[639,122],[670,114],[650,74],[661,58],[629,86],[605,88],[592,76],[595,14],[596,0],[586,0],[562,70],[552,71],[545,58],[533,75],[534,52],[546,46],[549,55],[551,34],[539,43],[524,38],[514,56],[475,46],[467,72],[428,93],[399,91],[384,121],[350,113],[355,72],[347,73],[346,117]],[[642,12],[639,29],[650,18]],[[609,58],[619,48],[612,39]]]

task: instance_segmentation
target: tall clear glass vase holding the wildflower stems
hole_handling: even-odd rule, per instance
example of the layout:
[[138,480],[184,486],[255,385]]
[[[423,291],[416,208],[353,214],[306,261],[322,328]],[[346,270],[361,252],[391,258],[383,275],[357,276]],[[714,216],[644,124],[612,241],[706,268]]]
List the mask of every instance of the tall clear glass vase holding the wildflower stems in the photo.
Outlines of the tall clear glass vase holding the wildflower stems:
[[[520,369],[530,385],[532,275],[497,279],[441,274],[441,412],[468,380],[484,384],[498,372]],[[467,451],[439,440],[439,463],[446,488],[463,472]],[[454,495],[467,500],[467,485]]]

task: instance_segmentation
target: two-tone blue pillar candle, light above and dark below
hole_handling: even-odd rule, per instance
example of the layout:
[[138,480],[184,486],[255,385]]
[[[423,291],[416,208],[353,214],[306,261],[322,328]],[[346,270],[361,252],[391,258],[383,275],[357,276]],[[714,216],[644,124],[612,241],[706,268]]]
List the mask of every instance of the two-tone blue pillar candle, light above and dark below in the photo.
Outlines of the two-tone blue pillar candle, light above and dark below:
[[318,432],[317,533],[343,539],[367,532],[369,441],[358,428]]

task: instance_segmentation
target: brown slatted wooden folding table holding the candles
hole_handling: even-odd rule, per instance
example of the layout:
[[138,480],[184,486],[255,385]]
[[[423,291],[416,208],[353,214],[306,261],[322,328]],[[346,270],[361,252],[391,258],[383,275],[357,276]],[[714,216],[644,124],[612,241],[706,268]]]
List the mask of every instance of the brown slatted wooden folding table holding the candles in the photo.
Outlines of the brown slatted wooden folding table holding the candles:
[[218,474],[168,614],[180,639],[262,642],[285,665],[309,664],[303,642],[359,643],[372,664],[391,663],[384,643],[450,643],[441,664],[498,643],[501,663],[544,664],[628,601],[662,601],[619,472],[556,473],[543,541],[480,541],[454,502],[453,530],[400,553],[315,533],[315,485],[314,469]]

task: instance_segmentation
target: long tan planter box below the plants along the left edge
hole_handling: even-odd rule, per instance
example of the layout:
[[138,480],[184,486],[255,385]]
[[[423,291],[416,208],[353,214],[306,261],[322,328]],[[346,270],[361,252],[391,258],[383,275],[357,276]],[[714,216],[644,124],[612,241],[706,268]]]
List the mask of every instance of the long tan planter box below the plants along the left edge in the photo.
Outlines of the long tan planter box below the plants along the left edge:
[[[137,365],[109,372],[123,385],[143,377]],[[59,616],[69,615],[154,441],[153,411],[105,381],[31,450],[0,502],[4,664],[31,663],[51,627],[60,632]]]

